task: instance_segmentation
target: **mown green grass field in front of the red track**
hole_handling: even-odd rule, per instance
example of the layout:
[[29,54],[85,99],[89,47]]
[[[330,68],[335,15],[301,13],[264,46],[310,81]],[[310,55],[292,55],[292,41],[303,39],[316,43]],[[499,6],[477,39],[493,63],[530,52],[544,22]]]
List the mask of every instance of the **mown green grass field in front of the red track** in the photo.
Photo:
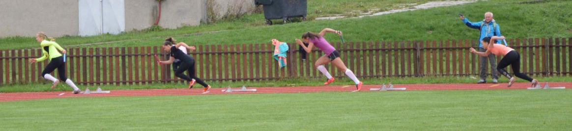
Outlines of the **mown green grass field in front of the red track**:
[[2,102],[3,130],[570,130],[572,90],[82,97]]

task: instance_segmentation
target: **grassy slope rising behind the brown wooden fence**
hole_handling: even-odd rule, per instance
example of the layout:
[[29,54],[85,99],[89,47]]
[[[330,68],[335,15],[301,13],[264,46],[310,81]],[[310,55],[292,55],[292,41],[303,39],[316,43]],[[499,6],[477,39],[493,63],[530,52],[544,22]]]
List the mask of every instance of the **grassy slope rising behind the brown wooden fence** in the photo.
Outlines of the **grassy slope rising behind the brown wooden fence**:
[[[367,3],[367,1],[363,3]],[[457,14],[463,13],[471,21],[479,21],[486,11],[495,13],[495,19],[501,25],[503,35],[509,38],[572,37],[572,25],[569,24],[572,23],[572,8],[569,8],[570,6],[572,6],[572,1],[549,1],[536,4],[520,4],[517,1],[479,1],[468,5],[408,11],[406,13],[360,19],[308,21],[273,26],[264,26],[264,21],[261,21],[262,14],[253,14],[235,21],[221,22],[215,25],[183,27],[176,30],[156,32],[139,31],[122,35],[101,35],[86,38],[64,37],[58,38],[57,41],[62,45],[77,45],[136,39],[98,46],[154,46],[159,45],[165,36],[223,30],[217,33],[191,37],[177,37],[177,39],[193,45],[264,43],[271,38],[293,42],[294,38],[299,38],[300,34],[305,31],[317,32],[324,27],[343,30],[346,41],[473,39],[478,36],[478,31],[464,26],[458,19]],[[340,6],[340,8],[347,10],[343,6]],[[310,11],[321,9],[321,7],[313,9],[313,6],[309,8]],[[335,10],[329,8],[329,6],[324,6],[325,9]],[[335,11],[326,12],[336,13]],[[328,35],[327,38],[332,42],[340,41],[339,38],[333,35]],[[0,49],[37,47],[33,38],[22,37],[0,39],[0,45],[2,45]]]

